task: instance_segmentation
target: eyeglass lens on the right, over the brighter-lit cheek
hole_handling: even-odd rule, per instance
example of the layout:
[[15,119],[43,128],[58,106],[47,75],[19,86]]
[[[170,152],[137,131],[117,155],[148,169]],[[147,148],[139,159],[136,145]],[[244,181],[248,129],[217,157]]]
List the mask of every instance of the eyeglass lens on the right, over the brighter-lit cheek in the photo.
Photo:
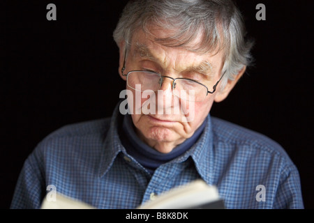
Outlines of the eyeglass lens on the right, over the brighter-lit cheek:
[[173,94],[188,101],[203,101],[207,96],[207,88],[189,79],[176,79]]

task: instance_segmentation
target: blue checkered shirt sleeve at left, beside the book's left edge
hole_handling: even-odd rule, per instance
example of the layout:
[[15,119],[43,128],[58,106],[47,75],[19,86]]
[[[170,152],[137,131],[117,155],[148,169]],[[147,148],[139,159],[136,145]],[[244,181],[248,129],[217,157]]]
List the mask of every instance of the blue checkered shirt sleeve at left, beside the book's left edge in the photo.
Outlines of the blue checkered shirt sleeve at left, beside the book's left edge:
[[45,196],[45,180],[39,152],[39,149],[33,151],[24,162],[15,186],[11,209],[40,208]]

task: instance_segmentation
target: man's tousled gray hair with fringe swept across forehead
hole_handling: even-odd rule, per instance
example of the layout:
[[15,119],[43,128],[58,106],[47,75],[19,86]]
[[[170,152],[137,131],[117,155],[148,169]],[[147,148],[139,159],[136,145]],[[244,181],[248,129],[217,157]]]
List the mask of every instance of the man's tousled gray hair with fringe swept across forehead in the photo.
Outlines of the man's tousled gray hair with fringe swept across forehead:
[[[149,33],[149,24],[175,31],[173,36],[155,39],[167,47],[200,53],[223,49],[225,77],[220,88],[252,61],[253,41],[245,39],[244,21],[232,0],[131,0],[114,30],[114,40],[118,46],[124,40],[127,46],[138,29]],[[188,47],[198,37],[200,43]]]

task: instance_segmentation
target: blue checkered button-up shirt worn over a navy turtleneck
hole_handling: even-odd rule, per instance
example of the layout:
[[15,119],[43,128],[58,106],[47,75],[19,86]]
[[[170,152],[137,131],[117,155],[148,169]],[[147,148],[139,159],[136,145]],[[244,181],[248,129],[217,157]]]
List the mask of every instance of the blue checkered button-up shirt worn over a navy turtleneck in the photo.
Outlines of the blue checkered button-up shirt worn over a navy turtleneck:
[[186,153],[150,174],[122,146],[122,118],[117,106],[111,118],[67,125],[43,139],[24,162],[11,208],[40,208],[48,185],[96,208],[136,208],[197,178],[218,187],[225,208],[304,208],[297,168],[261,134],[209,116]]

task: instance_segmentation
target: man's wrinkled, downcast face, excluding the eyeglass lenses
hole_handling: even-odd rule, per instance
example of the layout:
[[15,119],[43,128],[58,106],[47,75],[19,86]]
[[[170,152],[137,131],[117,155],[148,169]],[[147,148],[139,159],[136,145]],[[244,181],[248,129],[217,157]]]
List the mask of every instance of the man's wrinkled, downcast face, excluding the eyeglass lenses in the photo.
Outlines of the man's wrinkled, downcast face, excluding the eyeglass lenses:
[[[134,34],[126,56],[124,74],[131,70],[151,70],[173,78],[195,79],[212,91],[223,68],[223,52],[212,55],[197,54],[178,47],[165,47],[154,42],[154,38],[169,35],[167,30],[151,27],[151,33],[154,36],[145,34],[143,31]],[[194,44],[196,43],[197,40]],[[124,52],[120,56],[120,68],[124,61],[123,54]],[[135,114],[135,103],[129,104],[129,106],[133,104],[134,114],[131,116],[137,135],[160,153],[169,153],[175,146],[193,135],[209,114],[216,95],[216,92],[209,93],[202,102],[181,100],[172,95],[172,82],[172,79],[165,78],[160,89],[163,95],[158,97],[156,93],[156,100],[149,102],[150,106],[153,103],[156,106],[154,114],[143,114],[143,112]],[[133,92],[134,98],[129,102],[135,102],[135,95],[138,95],[138,92],[135,93],[135,90],[128,86],[126,88]],[[142,98],[140,106],[144,106],[147,100],[147,97]],[[174,112],[178,111],[176,109],[178,106],[181,112]],[[193,111],[190,110],[187,113],[188,109],[193,109]],[[160,111],[163,111],[162,114]]]

